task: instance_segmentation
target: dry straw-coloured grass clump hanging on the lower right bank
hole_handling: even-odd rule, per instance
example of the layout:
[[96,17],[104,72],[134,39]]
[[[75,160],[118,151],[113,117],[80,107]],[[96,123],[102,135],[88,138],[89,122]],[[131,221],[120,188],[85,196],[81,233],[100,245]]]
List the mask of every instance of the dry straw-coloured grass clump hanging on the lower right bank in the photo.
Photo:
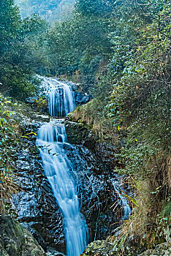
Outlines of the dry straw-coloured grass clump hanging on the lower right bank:
[[134,238],[137,247],[145,245],[148,249],[154,244],[168,241],[166,230],[170,225],[170,157],[159,152],[156,159],[148,161],[155,165],[156,172],[143,181],[135,181],[136,204],[129,220],[121,225],[121,233],[114,239],[113,251],[125,255],[129,237]]

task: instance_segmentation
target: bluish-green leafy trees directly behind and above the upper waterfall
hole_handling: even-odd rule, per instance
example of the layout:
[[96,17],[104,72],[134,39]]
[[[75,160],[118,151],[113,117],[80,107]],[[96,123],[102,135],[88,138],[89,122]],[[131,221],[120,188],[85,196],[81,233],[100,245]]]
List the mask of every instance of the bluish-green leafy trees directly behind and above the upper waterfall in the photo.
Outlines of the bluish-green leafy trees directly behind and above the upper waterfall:
[[56,23],[47,34],[54,75],[72,75],[77,69],[83,82],[92,84],[100,64],[110,52],[105,20],[77,13],[71,20]]

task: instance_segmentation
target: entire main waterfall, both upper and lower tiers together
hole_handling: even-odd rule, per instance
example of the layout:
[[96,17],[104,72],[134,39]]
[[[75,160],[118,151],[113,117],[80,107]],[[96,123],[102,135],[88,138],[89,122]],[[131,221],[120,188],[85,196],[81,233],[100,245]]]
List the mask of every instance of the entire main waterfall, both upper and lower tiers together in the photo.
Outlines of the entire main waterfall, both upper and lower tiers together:
[[[49,113],[53,117],[64,117],[75,108],[72,90],[66,83],[44,78],[42,87],[49,99]],[[37,135],[37,146],[42,157],[45,175],[53,189],[58,206],[64,215],[67,256],[78,256],[87,246],[88,227],[80,213],[77,184],[73,178],[73,167],[66,151],[66,132],[61,119],[43,124]]]

